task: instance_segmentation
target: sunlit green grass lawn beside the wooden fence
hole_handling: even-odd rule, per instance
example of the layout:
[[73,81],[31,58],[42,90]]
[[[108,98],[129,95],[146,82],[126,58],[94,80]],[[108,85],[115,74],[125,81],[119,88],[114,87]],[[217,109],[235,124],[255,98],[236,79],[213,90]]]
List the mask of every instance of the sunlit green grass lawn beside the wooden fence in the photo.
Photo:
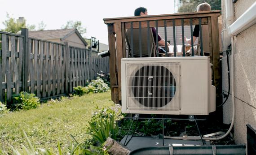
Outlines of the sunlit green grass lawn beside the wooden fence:
[[50,101],[39,108],[18,111],[0,117],[0,149],[10,151],[8,144],[21,148],[27,146],[22,129],[26,132],[32,144],[37,148],[52,147],[57,153],[57,142],[62,150],[66,150],[71,142],[69,133],[78,142],[83,142],[96,107],[114,106],[110,91],[89,94],[81,97],[64,98],[62,101]]

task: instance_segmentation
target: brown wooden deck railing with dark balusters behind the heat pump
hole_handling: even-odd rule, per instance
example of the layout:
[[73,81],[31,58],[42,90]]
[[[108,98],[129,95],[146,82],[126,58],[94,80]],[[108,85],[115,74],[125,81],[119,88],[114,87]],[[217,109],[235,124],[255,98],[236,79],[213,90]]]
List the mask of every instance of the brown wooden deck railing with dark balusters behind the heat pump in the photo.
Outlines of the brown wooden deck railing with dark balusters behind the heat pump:
[[[119,17],[119,18],[106,18],[103,19],[108,26],[108,41],[110,52],[110,84],[111,84],[111,98],[115,103],[121,101],[121,59],[125,57],[133,57],[133,40],[135,37],[139,39],[139,57],[142,56],[142,39],[147,39],[148,56],[177,56],[178,52],[182,52],[182,56],[187,56],[185,48],[185,26],[190,26],[190,37],[193,39],[193,27],[199,25],[199,56],[203,56],[203,38],[202,26],[207,26],[209,43],[209,59],[212,63],[212,84],[216,86],[216,102],[221,100],[221,68],[220,68],[220,47],[219,47],[219,28],[218,28],[218,16],[220,11],[205,11],[197,13],[177,13],[177,14],[165,14],[165,15],[153,15],[153,16],[136,16],[136,17]],[[182,36],[182,50],[177,51],[177,38],[180,34],[177,34],[177,28],[181,26]],[[168,33],[172,33],[173,39],[170,42],[174,46],[172,55],[167,53],[159,53],[158,42],[155,43],[156,52],[150,54],[150,28],[154,27],[156,34],[159,29],[164,29],[164,34],[161,34],[165,39],[165,49],[167,48]],[[148,30],[147,37],[142,38],[141,30],[146,28]],[[139,30],[138,33],[133,33],[134,30]],[[130,31],[130,38],[126,36],[127,30]],[[169,31],[168,31],[169,30]],[[171,30],[171,31],[170,31]],[[188,36],[187,36],[188,37]],[[190,38],[189,37],[189,38]],[[157,38],[157,36],[156,36]],[[129,46],[128,46],[129,44]],[[194,47],[193,40],[191,47]],[[195,56],[194,48],[191,48],[190,56]]]

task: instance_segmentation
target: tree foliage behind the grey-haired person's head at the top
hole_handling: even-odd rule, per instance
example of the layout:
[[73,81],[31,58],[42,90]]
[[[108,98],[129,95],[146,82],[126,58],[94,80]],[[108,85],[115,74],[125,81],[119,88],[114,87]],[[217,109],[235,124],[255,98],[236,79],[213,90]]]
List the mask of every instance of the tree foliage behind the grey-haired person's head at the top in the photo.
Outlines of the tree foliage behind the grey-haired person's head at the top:
[[207,2],[211,5],[212,10],[221,10],[221,0],[179,0],[179,13],[195,12],[197,6],[201,3]]

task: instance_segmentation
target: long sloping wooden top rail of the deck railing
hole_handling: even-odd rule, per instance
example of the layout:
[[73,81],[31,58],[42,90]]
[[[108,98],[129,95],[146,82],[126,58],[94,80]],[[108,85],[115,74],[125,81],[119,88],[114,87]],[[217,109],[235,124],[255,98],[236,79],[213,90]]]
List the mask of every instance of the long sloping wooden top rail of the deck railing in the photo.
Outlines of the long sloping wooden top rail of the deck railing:
[[105,24],[118,23],[118,22],[139,22],[139,21],[155,21],[155,20],[168,20],[168,19],[181,19],[181,18],[199,18],[209,16],[220,16],[221,13],[217,11],[204,11],[196,13],[177,13],[177,14],[164,14],[164,15],[151,15],[151,16],[132,16],[132,17],[119,17],[103,19]]

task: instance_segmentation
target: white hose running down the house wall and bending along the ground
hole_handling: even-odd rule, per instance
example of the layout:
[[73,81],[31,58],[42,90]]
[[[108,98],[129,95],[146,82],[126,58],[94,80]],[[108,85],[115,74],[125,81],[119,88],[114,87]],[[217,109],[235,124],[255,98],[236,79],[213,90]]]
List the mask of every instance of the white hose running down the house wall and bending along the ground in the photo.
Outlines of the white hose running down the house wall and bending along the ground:
[[[232,92],[232,121],[230,125],[230,129],[221,137],[216,138],[203,138],[203,140],[220,140],[225,138],[231,131],[234,125],[235,119],[235,102],[234,102],[234,37],[231,38],[231,92]],[[210,133],[211,134],[211,133]],[[186,139],[186,140],[201,140],[200,137],[171,137],[171,136],[164,136],[167,139]]]

